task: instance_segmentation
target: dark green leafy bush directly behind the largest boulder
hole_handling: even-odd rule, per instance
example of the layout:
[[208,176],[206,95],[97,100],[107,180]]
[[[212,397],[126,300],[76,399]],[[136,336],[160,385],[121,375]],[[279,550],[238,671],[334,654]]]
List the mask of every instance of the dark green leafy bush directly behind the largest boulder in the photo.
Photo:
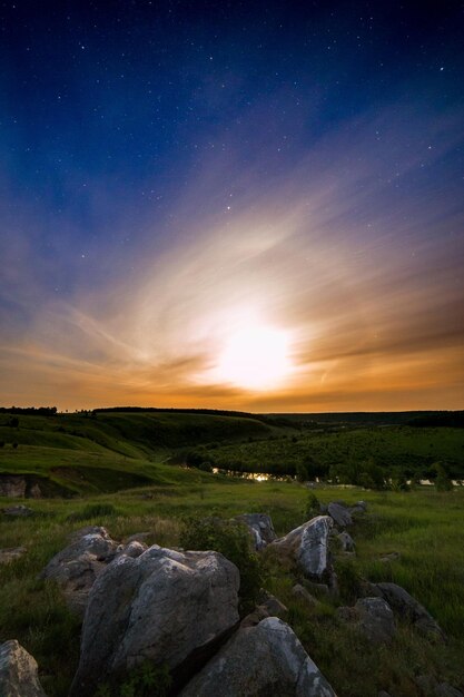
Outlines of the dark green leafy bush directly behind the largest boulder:
[[244,523],[221,518],[188,518],[184,521],[180,546],[185,549],[210,549],[224,554],[240,572],[240,613],[246,613],[256,605],[265,573]]

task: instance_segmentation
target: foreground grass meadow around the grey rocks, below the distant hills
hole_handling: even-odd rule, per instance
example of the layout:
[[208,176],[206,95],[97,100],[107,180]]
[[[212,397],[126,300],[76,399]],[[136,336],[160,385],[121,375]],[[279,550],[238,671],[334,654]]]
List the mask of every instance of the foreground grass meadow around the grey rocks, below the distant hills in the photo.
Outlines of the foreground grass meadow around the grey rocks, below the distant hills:
[[[378,689],[418,697],[417,675],[462,686],[464,492],[345,489],[340,493],[327,487],[318,489],[317,495],[323,502],[340,497],[348,503],[359,498],[368,501],[367,519],[356,522],[353,531],[357,557],[352,571],[404,586],[448,636],[446,646],[432,645],[399,621],[389,647],[368,646],[337,622],[333,601],[324,599],[310,609],[296,600],[292,587],[304,579],[269,559],[266,586],[289,608],[292,626],[334,688],[344,697],[371,697]],[[71,531],[82,524],[105,524],[115,539],[149,531],[150,542],[174,547],[186,517],[265,511],[283,534],[304,521],[306,500],[307,490],[296,483],[249,483],[205,474],[171,487],[152,485],[82,501],[30,501],[33,518],[0,519],[0,547],[28,549],[22,559],[0,567],[0,640],[17,638],[37,658],[47,694],[63,697],[77,666],[79,626],[58,589],[37,576]],[[3,499],[0,505],[6,503],[11,500]],[[398,560],[379,561],[392,551],[399,552]],[[340,577],[349,586],[353,573]],[[342,591],[349,595],[349,588]]]

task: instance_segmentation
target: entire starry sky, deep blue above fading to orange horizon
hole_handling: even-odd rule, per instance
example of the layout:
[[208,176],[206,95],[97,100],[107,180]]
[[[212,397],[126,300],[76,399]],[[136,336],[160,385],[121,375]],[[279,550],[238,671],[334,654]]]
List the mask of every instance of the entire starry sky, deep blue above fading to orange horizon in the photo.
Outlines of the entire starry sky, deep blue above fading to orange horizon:
[[463,408],[463,2],[13,0],[0,36],[2,405]]

